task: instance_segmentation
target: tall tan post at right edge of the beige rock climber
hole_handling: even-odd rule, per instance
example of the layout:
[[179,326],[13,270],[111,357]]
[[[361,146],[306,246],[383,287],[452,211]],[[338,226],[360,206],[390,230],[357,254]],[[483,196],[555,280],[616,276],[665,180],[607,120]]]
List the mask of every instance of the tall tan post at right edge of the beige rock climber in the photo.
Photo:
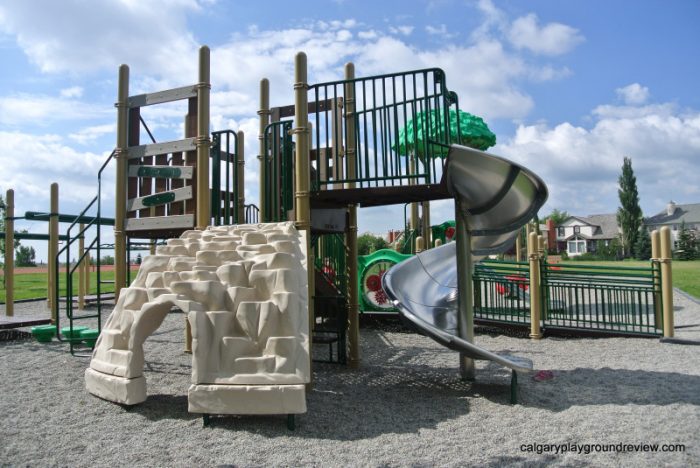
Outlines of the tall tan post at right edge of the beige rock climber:
[[[294,178],[294,213],[297,229],[306,231],[307,273],[309,284],[309,346],[314,324],[314,259],[311,250],[311,204],[309,186],[311,184],[311,155],[309,151],[309,96],[306,74],[306,54],[299,52],[294,58],[294,135],[296,160]],[[262,124],[261,124],[262,125]],[[261,152],[264,154],[264,152]],[[309,359],[311,359],[309,357]]]

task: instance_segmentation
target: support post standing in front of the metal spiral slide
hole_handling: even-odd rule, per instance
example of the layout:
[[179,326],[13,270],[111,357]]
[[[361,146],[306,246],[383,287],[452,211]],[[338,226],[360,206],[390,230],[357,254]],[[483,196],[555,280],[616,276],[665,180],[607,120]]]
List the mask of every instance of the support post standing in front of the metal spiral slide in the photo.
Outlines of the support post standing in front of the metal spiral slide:
[[[457,243],[457,333],[460,338],[474,343],[474,259],[472,242],[467,230],[467,215],[460,198],[455,199],[455,242]],[[474,380],[474,359],[460,354],[459,372],[464,380]]]

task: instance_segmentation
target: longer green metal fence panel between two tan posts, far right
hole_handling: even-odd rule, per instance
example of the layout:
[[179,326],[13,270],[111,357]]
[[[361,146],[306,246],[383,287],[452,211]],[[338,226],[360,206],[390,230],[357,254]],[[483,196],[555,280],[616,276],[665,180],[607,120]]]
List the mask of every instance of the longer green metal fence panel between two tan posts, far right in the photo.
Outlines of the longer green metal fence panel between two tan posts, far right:
[[546,328],[659,335],[660,270],[649,267],[542,265]]

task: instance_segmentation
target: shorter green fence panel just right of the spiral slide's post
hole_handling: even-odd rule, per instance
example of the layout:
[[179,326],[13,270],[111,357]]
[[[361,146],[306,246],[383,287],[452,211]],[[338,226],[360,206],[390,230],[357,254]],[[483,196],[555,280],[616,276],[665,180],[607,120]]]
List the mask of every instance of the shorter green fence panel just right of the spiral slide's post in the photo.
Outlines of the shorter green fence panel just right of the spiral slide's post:
[[486,260],[474,268],[474,317],[530,323],[530,270],[527,262]]

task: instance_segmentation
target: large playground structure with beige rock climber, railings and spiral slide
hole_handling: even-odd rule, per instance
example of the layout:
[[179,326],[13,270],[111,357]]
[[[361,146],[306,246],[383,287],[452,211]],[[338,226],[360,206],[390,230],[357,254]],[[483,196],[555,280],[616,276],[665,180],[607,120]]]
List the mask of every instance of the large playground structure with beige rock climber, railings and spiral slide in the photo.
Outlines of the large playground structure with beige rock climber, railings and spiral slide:
[[[457,325],[439,323],[437,306],[421,314],[410,306],[411,298],[404,294],[417,281],[412,276],[417,268],[397,267],[395,274],[384,275],[386,290],[405,316],[420,315],[433,327],[423,323],[424,331],[461,353],[462,377],[474,378],[474,358],[513,371],[531,369],[522,360],[474,345],[470,275],[473,256],[501,251],[514,241],[513,233],[544,203],[546,189],[524,168],[453,141],[448,116],[459,103],[442,70],[356,78],[348,64],[344,79],[310,85],[306,56],[300,53],[295,104],[278,108],[270,108],[269,82],[263,79],[260,223],[228,226],[250,221],[242,199],[243,138],[240,132],[225,131],[209,139],[206,47],[200,50],[199,65],[196,85],[139,96],[128,95],[128,67],[120,67],[117,147],[102,168],[115,159],[118,301],[86,371],[90,392],[123,404],[143,401],[141,346],[176,306],[191,328],[190,411],[204,414],[205,422],[209,414],[304,412],[310,346],[317,332],[347,336],[347,355],[344,344],[342,350],[339,345],[339,360],[350,367],[360,364],[358,206],[450,198],[456,203],[457,243],[401,265],[423,260],[445,265],[455,281],[444,284],[451,287],[449,294],[436,293],[435,299],[456,304],[450,310]],[[186,138],[156,143],[151,136],[153,143],[140,144],[140,126],[145,126],[141,107],[179,99],[188,100]],[[399,137],[400,129],[421,112],[438,116],[433,125],[426,124],[425,136]],[[234,150],[229,140],[235,140]],[[224,141],[226,148],[216,150]],[[472,167],[476,162],[483,164]],[[217,184],[223,174],[227,184],[222,188]],[[98,232],[99,199],[98,193],[79,215],[86,216],[95,204]],[[510,216],[490,219],[510,208]],[[428,226],[428,220],[423,224]],[[424,236],[430,245],[430,234]],[[167,240],[144,259],[127,288],[129,239]],[[538,310],[535,300],[530,304]],[[535,318],[532,326],[539,322]],[[533,328],[532,337],[540,336]],[[237,401],[241,395],[246,396]],[[288,421],[293,426],[293,417]]]

